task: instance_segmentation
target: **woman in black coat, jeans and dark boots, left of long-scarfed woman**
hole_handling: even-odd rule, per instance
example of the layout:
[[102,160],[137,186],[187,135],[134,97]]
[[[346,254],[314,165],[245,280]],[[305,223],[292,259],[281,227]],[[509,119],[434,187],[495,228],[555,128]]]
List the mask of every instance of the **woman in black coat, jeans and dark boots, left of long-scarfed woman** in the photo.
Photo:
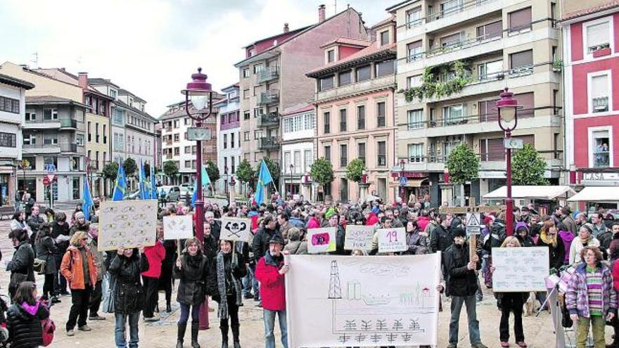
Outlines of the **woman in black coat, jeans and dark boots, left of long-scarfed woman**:
[[200,348],[200,305],[205,300],[205,285],[208,277],[209,260],[202,252],[202,243],[196,238],[185,240],[185,249],[174,265],[174,277],[179,279],[177,302],[181,306],[178,323],[177,348],[183,347],[185,330],[191,308],[191,347]]

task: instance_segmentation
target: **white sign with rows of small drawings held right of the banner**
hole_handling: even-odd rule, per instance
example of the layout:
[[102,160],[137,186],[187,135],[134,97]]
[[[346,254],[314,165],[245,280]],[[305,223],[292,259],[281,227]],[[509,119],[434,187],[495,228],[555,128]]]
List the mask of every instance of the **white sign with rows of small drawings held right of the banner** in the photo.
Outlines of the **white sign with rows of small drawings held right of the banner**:
[[493,247],[492,291],[546,291],[549,273],[547,247]]

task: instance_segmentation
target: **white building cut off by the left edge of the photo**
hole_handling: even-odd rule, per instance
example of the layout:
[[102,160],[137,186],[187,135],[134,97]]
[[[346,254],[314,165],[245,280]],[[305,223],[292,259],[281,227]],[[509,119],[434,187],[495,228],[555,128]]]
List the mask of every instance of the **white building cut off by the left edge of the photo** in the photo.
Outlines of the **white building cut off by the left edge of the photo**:
[[15,203],[15,169],[22,159],[21,124],[30,82],[0,74],[0,205]]

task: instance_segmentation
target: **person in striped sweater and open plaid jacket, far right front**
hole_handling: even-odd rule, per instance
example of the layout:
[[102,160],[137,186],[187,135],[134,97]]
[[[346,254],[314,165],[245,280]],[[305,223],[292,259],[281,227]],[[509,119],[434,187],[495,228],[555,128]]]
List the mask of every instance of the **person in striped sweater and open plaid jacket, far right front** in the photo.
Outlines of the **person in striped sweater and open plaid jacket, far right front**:
[[576,266],[566,292],[566,307],[576,324],[576,347],[585,348],[591,327],[594,347],[604,348],[606,320],[612,321],[617,312],[613,276],[602,263],[602,253],[597,247],[583,247],[580,259],[583,261]]

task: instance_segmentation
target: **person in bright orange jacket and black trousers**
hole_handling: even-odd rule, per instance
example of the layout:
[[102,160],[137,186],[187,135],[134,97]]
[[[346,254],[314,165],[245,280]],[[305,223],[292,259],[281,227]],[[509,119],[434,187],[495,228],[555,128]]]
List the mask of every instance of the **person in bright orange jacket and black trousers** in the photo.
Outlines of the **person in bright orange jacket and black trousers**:
[[91,330],[87,325],[87,315],[90,294],[97,282],[97,268],[87,243],[87,234],[84,231],[76,231],[60,264],[60,273],[67,278],[71,289],[71,309],[66,324],[68,336],[75,335],[73,329],[76,322],[77,330]]

